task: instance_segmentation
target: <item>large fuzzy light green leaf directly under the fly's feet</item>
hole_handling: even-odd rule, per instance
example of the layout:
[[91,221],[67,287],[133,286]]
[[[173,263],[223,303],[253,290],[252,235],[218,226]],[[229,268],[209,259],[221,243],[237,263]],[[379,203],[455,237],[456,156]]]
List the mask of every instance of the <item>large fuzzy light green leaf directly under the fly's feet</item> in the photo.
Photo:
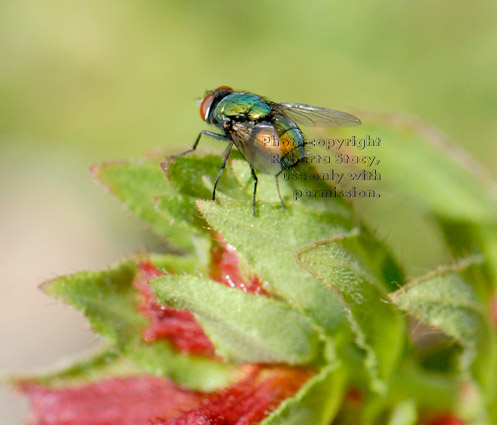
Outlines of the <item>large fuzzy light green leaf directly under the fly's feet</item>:
[[338,296],[296,263],[293,253],[312,242],[343,233],[350,220],[334,213],[299,205],[262,204],[257,217],[250,203],[198,201],[209,224],[257,271],[280,297],[301,309],[328,336],[344,323]]

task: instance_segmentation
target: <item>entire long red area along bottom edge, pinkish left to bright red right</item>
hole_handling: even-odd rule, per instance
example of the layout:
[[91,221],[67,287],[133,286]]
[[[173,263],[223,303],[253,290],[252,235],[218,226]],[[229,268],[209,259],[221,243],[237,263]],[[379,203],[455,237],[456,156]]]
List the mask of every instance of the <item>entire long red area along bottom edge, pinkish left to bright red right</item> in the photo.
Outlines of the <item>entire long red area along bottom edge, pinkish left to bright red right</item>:
[[252,425],[309,378],[297,368],[246,368],[228,388],[201,393],[154,376],[113,378],[73,388],[24,383],[32,425]]

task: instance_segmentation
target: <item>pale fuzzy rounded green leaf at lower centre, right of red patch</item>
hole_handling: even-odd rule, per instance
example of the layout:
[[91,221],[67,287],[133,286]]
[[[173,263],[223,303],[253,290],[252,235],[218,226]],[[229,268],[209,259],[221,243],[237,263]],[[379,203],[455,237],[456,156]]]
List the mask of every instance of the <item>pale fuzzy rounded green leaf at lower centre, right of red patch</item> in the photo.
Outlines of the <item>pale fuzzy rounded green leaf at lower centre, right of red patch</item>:
[[162,304],[194,313],[228,361],[305,364],[317,355],[311,325],[281,301],[194,276],[161,276],[151,287]]

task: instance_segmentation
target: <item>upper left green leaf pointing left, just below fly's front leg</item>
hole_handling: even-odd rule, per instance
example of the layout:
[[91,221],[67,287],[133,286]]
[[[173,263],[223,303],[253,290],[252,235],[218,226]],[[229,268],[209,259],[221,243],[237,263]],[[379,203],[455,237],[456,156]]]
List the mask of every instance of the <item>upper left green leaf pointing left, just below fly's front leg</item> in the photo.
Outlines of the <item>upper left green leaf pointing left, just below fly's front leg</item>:
[[[160,168],[159,161],[109,162],[92,167],[93,176],[123,202],[134,214],[145,220],[161,236],[186,251],[194,251],[194,241],[171,219],[156,209],[158,196],[175,196]],[[189,217],[191,212],[186,216]]]

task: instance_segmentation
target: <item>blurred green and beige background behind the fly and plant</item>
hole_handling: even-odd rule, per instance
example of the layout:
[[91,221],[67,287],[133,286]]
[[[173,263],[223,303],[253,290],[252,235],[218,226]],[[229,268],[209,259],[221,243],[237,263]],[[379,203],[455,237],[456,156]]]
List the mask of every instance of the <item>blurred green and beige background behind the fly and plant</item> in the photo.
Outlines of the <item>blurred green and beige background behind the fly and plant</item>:
[[[87,169],[185,149],[205,128],[196,100],[207,89],[415,114],[495,175],[496,22],[497,2],[482,0],[3,0],[1,369],[100,343],[36,285],[163,247]],[[387,216],[382,232],[411,274],[447,258],[426,217]],[[0,403],[21,423],[23,402],[4,392]]]

